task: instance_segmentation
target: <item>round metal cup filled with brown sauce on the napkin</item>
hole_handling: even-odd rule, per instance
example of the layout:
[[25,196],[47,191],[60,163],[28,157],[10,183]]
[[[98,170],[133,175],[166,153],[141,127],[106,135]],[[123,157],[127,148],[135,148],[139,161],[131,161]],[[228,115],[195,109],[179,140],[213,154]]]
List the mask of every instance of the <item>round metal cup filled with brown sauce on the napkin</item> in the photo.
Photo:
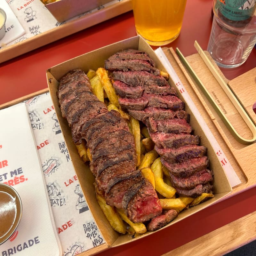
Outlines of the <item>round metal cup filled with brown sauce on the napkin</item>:
[[0,183],[0,244],[12,236],[20,223],[22,203],[17,191]]

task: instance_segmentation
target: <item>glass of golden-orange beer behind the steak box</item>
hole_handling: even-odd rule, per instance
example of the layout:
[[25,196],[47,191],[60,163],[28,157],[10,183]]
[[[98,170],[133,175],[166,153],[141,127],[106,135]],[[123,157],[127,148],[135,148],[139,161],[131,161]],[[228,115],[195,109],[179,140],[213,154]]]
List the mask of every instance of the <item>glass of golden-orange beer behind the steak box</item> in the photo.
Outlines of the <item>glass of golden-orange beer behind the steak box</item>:
[[150,45],[171,43],[180,35],[186,0],[132,0],[135,28]]

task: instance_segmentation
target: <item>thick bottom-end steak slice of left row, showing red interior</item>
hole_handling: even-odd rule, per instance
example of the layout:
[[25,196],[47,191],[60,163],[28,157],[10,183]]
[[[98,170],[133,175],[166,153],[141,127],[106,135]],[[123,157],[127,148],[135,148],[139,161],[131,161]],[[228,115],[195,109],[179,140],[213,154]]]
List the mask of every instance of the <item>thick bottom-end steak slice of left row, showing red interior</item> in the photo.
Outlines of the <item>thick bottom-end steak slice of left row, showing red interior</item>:
[[127,217],[134,223],[148,221],[162,213],[156,191],[145,178],[125,193],[122,205]]

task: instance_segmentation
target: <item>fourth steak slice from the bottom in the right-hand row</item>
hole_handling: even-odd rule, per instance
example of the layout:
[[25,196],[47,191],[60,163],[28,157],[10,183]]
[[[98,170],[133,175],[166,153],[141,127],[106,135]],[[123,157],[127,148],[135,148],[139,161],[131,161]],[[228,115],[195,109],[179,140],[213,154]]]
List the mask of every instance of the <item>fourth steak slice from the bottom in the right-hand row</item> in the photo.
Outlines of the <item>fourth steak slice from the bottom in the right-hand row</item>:
[[159,148],[155,145],[156,152],[169,163],[181,163],[193,157],[206,155],[207,148],[197,145],[185,145],[180,148]]

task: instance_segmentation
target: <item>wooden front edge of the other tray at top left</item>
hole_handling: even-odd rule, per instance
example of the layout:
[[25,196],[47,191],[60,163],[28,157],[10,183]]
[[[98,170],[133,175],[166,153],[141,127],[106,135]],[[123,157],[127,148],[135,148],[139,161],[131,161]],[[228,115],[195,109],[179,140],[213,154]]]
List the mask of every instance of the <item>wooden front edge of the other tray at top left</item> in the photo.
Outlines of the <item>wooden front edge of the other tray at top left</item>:
[[[86,1],[84,0],[84,2]],[[41,46],[57,41],[65,36],[72,35],[85,28],[92,27],[100,22],[109,20],[131,10],[131,0],[123,0],[117,4],[107,6],[102,10],[67,21],[65,24],[45,31],[42,34],[30,37],[17,44],[0,49],[0,63],[6,60],[11,60],[12,58],[20,56],[23,53],[30,52]]]

